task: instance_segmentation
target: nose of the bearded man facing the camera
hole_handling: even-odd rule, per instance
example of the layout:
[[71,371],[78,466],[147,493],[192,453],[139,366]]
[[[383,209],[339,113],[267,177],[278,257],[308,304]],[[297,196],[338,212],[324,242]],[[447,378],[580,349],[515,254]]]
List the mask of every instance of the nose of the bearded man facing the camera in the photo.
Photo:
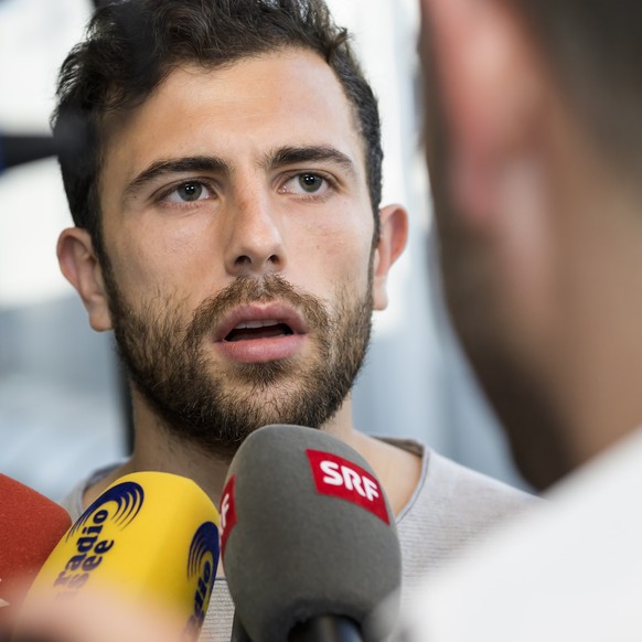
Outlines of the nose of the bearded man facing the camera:
[[244,194],[231,203],[229,240],[225,264],[228,274],[264,275],[282,271],[286,253],[279,217],[269,196]]

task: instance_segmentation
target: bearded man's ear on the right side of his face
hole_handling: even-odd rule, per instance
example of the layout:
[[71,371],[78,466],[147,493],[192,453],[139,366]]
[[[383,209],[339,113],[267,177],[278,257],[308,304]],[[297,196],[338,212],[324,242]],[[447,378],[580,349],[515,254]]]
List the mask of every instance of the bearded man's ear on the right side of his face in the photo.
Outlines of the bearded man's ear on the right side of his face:
[[379,210],[379,238],[374,253],[373,307],[385,310],[388,304],[386,287],[388,270],[406,247],[408,239],[408,213],[400,205],[387,205]]

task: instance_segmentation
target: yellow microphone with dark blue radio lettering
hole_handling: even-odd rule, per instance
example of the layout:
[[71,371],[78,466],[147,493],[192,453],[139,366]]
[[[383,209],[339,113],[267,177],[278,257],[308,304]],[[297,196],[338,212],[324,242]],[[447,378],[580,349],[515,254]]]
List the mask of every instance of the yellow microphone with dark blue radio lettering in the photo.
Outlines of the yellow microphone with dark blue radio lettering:
[[195,641],[218,542],[218,513],[192,480],[125,475],[43,565],[20,616],[20,639]]

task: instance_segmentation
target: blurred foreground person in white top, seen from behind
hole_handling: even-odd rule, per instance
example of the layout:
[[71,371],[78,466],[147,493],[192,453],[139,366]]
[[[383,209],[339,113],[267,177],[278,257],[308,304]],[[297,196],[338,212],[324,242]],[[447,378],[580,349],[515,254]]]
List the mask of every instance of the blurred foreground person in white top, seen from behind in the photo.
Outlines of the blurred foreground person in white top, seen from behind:
[[421,6],[450,309],[522,472],[564,479],[426,589],[417,639],[640,640],[640,7]]

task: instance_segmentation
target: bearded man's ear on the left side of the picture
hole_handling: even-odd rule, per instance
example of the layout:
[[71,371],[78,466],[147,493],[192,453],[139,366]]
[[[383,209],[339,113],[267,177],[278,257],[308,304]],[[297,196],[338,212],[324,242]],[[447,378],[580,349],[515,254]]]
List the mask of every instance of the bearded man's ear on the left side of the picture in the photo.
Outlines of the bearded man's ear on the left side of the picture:
[[103,271],[89,233],[81,227],[63,231],[58,238],[57,257],[63,275],[83,300],[92,328],[99,332],[110,330],[111,317]]

